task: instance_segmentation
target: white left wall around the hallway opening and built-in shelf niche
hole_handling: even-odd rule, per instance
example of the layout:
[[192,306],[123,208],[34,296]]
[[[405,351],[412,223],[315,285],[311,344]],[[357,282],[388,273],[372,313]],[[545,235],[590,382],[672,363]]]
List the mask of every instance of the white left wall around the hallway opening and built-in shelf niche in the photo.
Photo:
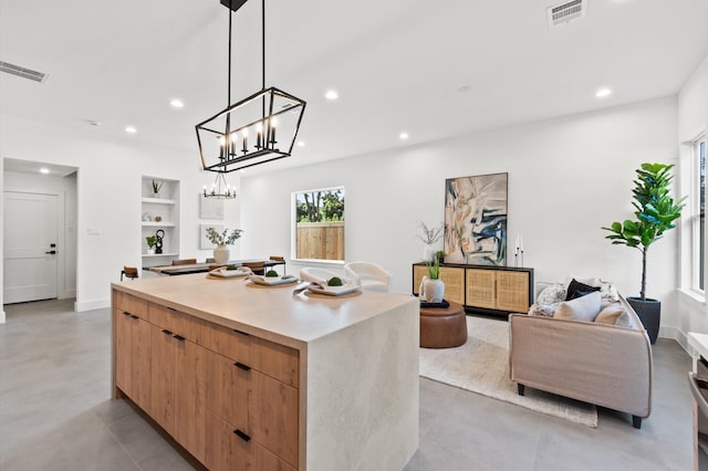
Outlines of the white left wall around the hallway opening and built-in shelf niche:
[[[119,280],[122,268],[140,265],[143,175],[181,181],[180,257],[211,257],[211,251],[199,250],[198,192],[204,185],[211,185],[214,176],[198,170],[196,145],[194,154],[185,154],[2,114],[0,129],[2,158],[79,168],[76,311],[110,305],[111,283]],[[42,142],[51,143],[51,148],[32,145],[37,129],[42,129]],[[231,181],[238,184],[238,176],[230,176]],[[223,223],[238,226],[238,205],[227,202]],[[100,233],[88,234],[90,228]],[[239,257],[238,243],[232,257]]]

